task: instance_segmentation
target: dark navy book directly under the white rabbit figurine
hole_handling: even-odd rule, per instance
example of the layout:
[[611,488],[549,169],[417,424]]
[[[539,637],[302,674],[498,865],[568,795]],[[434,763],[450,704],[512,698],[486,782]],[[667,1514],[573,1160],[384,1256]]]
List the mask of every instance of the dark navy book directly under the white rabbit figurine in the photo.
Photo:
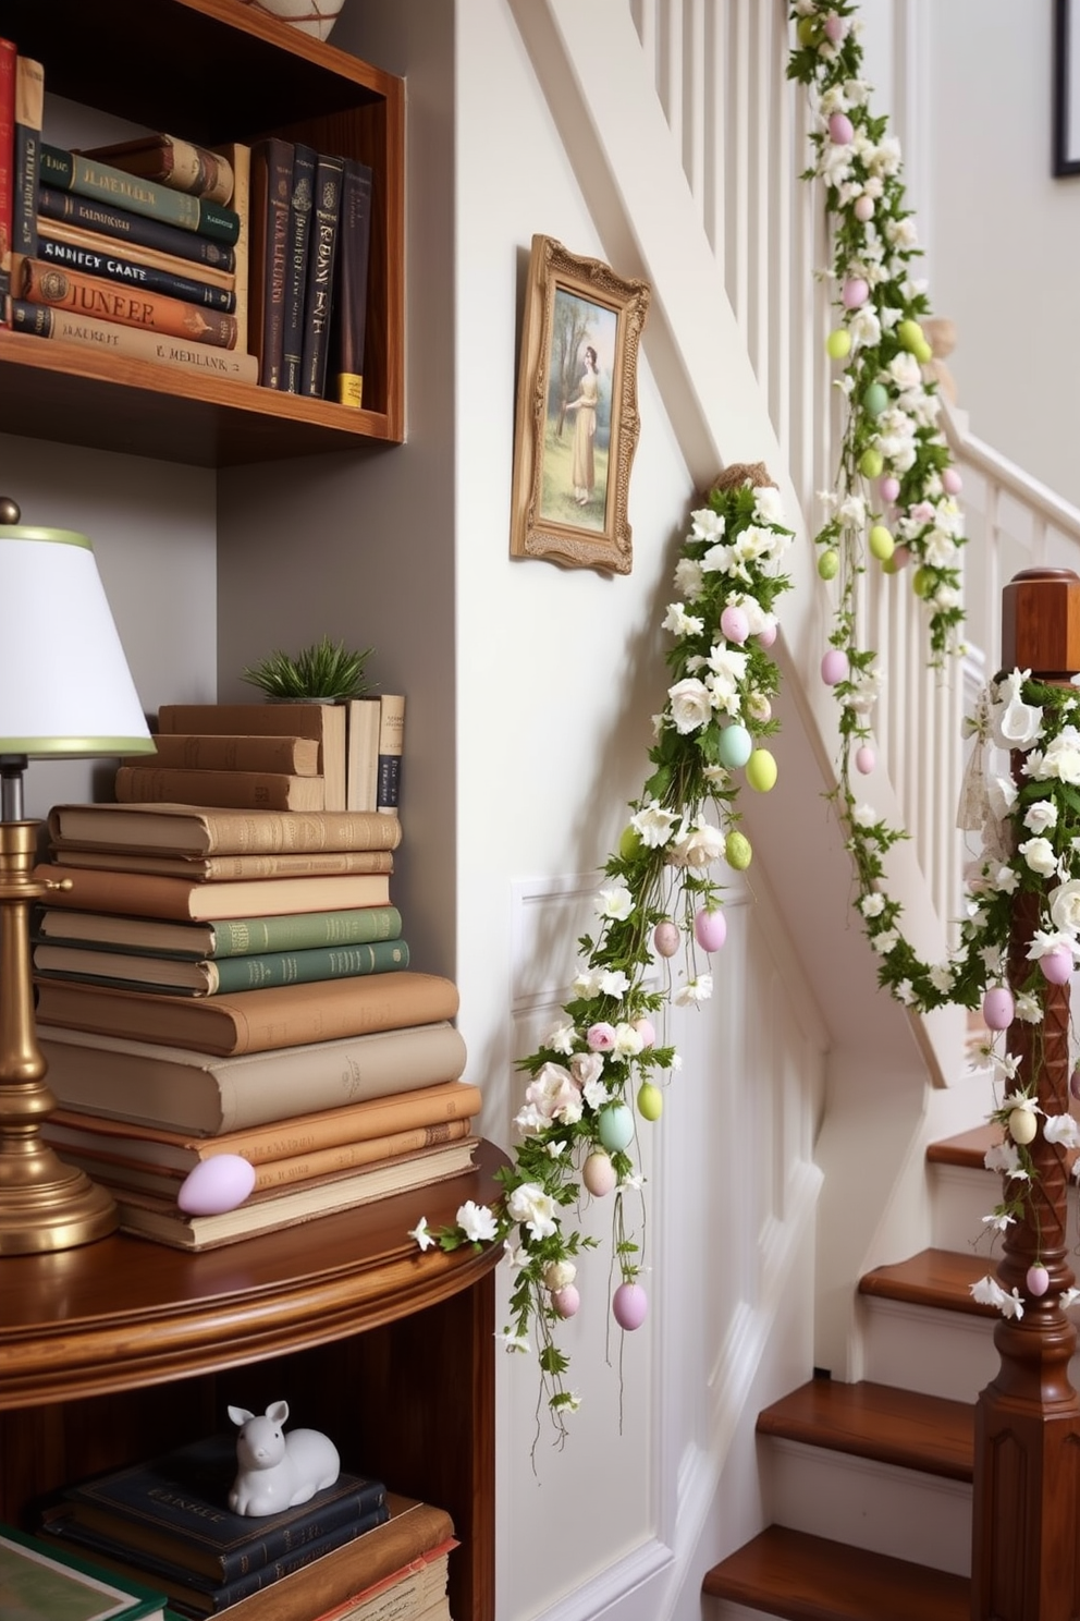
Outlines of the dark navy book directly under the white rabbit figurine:
[[[332,1486],[280,1514],[233,1514],[236,1431],[193,1441],[76,1486],[58,1504],[65,1520],[96,1532],[117,1558],[144,1555],[219,1587],[342,1533],[385,1506],[385,1485],[345,1470]],[[105,1551],[104,1543],[97,1543]]]

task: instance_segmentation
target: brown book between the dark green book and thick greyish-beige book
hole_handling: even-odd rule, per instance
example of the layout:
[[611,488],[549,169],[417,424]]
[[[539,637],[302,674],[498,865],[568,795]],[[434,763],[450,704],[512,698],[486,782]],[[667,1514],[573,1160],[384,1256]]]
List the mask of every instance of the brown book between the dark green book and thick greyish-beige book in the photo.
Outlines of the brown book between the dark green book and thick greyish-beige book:
[[397,1029],[458,1012],[452,979],[405,968],[397,974],[269,986],[225,997],[170,997],[66,979],[37,979],[37,1023],[202,1052],[267,1052],[303,1042]]

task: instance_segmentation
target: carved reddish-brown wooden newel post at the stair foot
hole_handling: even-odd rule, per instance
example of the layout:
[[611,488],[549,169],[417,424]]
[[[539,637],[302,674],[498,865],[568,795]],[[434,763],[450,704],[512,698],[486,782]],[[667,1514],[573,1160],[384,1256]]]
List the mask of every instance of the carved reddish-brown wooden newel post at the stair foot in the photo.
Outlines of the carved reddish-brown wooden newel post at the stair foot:
[[[1046,681],[1080,671],[1080,579],[1069,569],[1027,569],[1002,593],[1002,669]],[[1014,772],[1020,755],[1014,755]],[[1009,981],[1028,977],[1036,896],[1018,896]],[[1007,1091],[1030,1088],[1046,1115],[1069,1112],[1069,986],[1046,986],[1044,1020],[1017,1020],[1009,1052],[1020,1059]],[[997,1376],[975,1414],[972,1616],[975,1621],[1080,1618],[1080,1397],[1069,1381],[1077,1331],[1059,1300],[1074,1284],[1067,1263],[1069,1175],[1064,1148],[1031,1143],[1036,1169],[1027,1219],[1006,1230],[997,1281],[1018,1290],[1023,1316],[994,1329]],[[1010,1193],[1015,1188],[1009,1190]],[[1033,1295],[1028,1268],[1041,1261],[1049,1289]]]

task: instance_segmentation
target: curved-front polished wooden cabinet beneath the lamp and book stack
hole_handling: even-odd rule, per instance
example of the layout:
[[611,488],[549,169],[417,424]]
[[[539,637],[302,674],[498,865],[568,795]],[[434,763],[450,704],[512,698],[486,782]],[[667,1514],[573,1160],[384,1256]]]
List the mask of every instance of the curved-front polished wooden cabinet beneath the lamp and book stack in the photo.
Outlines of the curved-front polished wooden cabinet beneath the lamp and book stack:
[[285,1397],[347,1467],[447,1508],[455,1621],[494,1621],[497,1247],[421,1255],[419,1216],[489,1203],[505,1164],[204,1255],[125,1234],[0,1261],[0,1517]]

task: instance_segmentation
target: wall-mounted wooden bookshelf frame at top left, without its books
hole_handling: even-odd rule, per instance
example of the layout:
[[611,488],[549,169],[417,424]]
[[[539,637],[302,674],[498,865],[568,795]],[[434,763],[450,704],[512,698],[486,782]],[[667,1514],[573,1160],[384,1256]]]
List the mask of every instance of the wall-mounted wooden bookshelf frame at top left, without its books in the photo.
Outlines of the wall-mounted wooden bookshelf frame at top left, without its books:
[[44,65],[47,96],[204,146],[283,135],[374,172],[364,410],[0,329],[0,431],[199,467],[402,443],[403,81],[240,0],[0,0],[0,34]]

